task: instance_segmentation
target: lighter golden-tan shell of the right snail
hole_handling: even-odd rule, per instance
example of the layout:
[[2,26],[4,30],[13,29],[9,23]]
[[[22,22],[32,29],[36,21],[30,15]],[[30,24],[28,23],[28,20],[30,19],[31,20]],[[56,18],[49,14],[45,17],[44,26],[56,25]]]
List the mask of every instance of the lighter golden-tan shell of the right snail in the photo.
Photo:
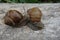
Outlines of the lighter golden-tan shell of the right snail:
[[34,7],[31,9],[28,9],[27,13],[32,22],[40,22],[41,21],[42,12],[39,8]]

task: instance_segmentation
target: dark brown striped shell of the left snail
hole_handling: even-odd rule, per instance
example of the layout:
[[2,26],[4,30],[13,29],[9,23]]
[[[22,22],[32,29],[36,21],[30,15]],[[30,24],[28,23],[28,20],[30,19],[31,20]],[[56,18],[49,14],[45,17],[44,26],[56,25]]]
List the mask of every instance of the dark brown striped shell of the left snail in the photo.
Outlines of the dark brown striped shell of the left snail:
[[16,26],[22,19],[23,15],[19,11],[9,10],[4,16],[4,23],[10,26]]

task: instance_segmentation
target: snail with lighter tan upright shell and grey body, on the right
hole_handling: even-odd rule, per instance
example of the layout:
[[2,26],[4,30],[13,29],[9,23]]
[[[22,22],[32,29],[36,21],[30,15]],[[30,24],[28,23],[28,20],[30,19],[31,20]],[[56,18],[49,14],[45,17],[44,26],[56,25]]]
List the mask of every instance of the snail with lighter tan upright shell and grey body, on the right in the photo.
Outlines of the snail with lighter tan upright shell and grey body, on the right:
[[29,15],[30,24],[38,29],[43,28],[43,24],[41,22],[42,12],[38,7],[33,7],[27,10],[27,14]]

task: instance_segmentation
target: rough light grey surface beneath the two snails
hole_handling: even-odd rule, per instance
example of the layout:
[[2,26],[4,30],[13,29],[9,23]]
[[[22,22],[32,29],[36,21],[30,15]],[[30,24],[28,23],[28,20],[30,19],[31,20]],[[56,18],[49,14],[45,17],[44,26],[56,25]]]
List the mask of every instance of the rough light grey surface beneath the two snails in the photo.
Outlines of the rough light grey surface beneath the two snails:
[[[24,14],[27,9],[38,7],[43,13],[44,29],[32,30],[27,25],[12,28],[1,23],[2,18],[10,9]],[[25,9],[25,10],[24,10]],[[60,3],[57,4],[4,4],[0,3],[0,40],[60,40]]]

